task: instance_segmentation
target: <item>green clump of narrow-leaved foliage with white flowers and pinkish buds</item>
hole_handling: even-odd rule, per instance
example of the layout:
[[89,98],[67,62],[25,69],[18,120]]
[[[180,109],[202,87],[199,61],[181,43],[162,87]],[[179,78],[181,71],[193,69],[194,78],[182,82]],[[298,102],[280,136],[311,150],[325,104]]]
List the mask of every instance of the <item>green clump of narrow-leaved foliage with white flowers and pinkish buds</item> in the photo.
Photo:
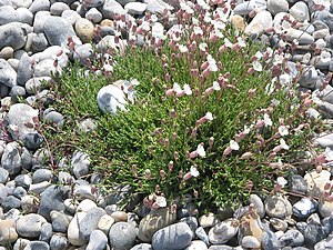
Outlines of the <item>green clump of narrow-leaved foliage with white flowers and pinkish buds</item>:
[[[97,50],[88,74],[73,66],[54,86],[67,123],[49,138],[52,153],[83,150],[105,189],[129,186],[168,201],[191,193],[220,207],[271,191],[306,150],[310,94],[297,97],[300,73],[291,72],[286,51],[230,27],[230,6],[205,4],[183,3],[168,33],[157,32],[154,16],[138,23],[118,17],[129,28],[124,53]],[[135,46],[140,36],[143,47]],[[140,82],[137,98],[127,111],[102,114],[97,93],[120,79]],[[78,133],[85,118],[98,128]]]

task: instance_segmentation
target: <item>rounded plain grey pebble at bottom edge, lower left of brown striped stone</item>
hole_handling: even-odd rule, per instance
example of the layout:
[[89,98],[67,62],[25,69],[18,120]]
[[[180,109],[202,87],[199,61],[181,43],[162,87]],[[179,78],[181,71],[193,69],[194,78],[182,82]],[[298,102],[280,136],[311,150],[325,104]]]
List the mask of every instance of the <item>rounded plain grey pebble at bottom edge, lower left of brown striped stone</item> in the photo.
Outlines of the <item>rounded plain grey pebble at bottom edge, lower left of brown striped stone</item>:
[[129,222],[114,223],[109,231],[109,241],[114,249],[131,249],[134,246],[135,238],[137,230]]

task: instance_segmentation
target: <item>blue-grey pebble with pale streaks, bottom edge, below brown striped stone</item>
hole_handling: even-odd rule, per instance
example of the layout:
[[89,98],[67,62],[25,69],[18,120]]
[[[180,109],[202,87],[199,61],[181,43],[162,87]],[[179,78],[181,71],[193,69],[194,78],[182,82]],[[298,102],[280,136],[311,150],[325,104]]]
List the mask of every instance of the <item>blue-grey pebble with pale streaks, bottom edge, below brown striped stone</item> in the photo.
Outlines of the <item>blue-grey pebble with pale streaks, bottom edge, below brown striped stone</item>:
[[152,237],[152,248],[159,250],[181,250],[191,244],[193,233],[184,222],[158,230]]

